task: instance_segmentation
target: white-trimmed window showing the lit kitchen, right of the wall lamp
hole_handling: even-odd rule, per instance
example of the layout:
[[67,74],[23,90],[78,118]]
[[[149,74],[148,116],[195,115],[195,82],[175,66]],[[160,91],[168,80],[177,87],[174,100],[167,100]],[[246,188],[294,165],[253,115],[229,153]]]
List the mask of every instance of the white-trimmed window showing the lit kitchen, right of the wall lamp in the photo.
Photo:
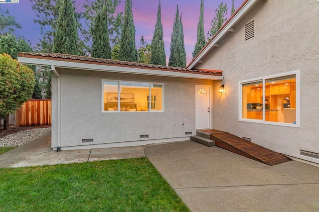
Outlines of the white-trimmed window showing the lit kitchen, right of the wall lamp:
[[300,126],[300,71],[239,82],[239,120]]

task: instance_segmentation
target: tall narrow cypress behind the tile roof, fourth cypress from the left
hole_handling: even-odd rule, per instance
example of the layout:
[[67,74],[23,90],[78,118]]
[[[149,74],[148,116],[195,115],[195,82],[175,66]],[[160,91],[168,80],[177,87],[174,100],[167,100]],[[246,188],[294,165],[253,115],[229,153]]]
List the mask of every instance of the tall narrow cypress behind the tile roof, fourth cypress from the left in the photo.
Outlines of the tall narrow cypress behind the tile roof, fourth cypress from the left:
[[164,49],[164,41],[163,41],[163,24],[161,23],[160,16],[160,4],[158,7],[158,16],[155,25],[155,31],[153,34],[152,44],[152,55],[151,55],[151,64],[155,65],[166,65],[166,55]]

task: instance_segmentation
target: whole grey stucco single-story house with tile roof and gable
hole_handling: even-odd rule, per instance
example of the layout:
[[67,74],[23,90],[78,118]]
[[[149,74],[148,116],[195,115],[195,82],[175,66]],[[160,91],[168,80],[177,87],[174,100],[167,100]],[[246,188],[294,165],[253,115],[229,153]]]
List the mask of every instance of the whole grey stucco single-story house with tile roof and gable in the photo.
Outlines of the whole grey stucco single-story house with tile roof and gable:
[[52,69],[54,150],[181,141],[214,128],[319,163],[319,0],[245,0],[186,68],[18,60]]

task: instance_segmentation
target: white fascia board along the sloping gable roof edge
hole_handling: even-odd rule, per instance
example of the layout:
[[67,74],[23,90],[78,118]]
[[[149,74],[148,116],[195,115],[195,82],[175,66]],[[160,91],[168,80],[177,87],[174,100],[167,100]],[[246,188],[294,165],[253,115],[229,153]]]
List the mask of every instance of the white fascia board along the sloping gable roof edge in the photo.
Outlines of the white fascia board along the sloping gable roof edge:
[[246,14],[259,0],[249,0],[245,6],[243,6],[238,13],[227,23],[227,25],[221,30],[221,32],[211,41],[211,43],[200,53],[200,55],[188,66],[188,69],[192,69],[202,57],[204,57],[209,51],[218,43],[226,33]]

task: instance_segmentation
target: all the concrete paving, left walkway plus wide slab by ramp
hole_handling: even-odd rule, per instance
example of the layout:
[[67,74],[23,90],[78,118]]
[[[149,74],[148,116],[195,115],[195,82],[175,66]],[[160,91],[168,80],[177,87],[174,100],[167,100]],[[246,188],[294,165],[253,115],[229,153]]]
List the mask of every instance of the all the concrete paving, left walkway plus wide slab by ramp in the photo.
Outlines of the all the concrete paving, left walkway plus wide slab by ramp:
[[0,155],[0,167],[148,157],[193,212],[319,211],[319,167],[276,166],[193,141],[52,151],[51,135]]

